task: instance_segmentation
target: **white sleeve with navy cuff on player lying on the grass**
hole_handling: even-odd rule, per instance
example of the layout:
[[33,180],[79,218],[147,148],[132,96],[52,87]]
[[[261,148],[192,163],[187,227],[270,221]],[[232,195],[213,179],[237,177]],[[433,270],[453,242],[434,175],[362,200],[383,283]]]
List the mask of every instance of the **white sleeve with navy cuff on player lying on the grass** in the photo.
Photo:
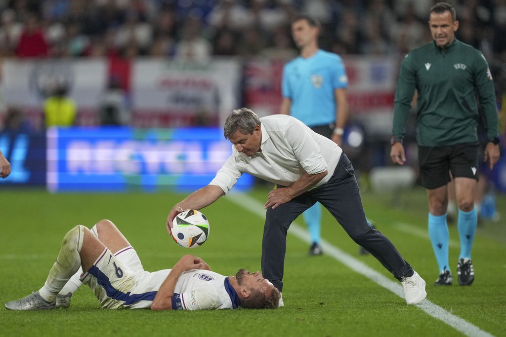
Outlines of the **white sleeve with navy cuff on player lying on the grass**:
[[216,289],[211,286],[198,287],[172,297],[173,310],[218,309],[220,301]]

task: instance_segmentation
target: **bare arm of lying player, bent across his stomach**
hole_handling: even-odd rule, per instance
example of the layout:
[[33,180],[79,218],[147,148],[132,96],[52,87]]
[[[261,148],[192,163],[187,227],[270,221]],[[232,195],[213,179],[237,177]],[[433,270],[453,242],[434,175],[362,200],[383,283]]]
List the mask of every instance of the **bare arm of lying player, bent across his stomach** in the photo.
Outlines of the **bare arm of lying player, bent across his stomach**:
[[202,259],[189,254],[183,256],[178,263],[174,265],[171,272],[158,289],[153,303],[151,303],[151,310],[172,309],[172,297],[174,296],[176,283],[183,272],[191,269],[210,270],[207,263]]

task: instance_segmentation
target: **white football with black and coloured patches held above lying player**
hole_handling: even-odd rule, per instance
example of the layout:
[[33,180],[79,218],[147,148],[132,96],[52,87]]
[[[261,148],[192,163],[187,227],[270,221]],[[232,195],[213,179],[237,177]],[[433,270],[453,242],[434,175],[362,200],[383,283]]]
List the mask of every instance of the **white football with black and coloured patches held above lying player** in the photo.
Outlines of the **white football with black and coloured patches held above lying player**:
[[209,222],[197,210],[184,210],[172,221],[172,238],[181,247],[202,246],[209,237]]

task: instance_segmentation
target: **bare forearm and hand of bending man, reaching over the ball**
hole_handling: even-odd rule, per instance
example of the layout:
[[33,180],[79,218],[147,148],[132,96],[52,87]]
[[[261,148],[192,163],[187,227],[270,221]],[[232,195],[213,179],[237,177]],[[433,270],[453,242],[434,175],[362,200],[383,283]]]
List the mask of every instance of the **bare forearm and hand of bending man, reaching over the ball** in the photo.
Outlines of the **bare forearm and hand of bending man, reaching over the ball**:
[[172,208],[172,210],[168,213],[167,216],[167,230],[170,232],[172,228],[172,220],[179,213],[183,212],[186,209],[195,209],[200,210],[210,204],[214,203],[221,196],[223,196],[225,192],[221,187],[217,185],[207,185],[200,189],[194,191],[191,195],[186,197],[185,200],[179,202]]

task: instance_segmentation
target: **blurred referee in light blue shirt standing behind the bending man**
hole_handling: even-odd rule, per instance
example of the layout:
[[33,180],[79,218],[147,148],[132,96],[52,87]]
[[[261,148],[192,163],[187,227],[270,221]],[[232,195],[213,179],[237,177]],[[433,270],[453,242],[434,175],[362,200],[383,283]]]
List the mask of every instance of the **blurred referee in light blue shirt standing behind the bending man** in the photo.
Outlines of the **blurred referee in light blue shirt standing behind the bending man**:
[[[301,54],[284,66],[279,112],[299,119],[314,132],[342,146],[348,119],[348,78],[343,60],[319,49],[321,26],[313,17],[296,17],[291,31]],[[321,255],[320,204],[308,208],[303,216],[311,235],[309,254]]]

